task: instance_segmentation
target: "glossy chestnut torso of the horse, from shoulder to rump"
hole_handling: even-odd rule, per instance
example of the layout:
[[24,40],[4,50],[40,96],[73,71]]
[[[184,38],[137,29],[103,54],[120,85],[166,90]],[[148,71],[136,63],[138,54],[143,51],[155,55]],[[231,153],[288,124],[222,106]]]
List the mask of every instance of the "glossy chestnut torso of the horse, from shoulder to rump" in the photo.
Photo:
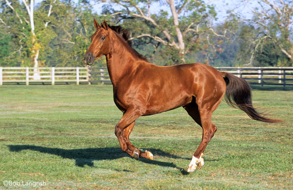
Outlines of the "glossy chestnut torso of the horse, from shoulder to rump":
[[193,97],[212,94],[215,86],[224,83],[217,69],[200,63],[166,67],[141,64],[117,84],[114,101],[122,111],[135,104],[144,107],[144,115],[152,115],[186,105]]

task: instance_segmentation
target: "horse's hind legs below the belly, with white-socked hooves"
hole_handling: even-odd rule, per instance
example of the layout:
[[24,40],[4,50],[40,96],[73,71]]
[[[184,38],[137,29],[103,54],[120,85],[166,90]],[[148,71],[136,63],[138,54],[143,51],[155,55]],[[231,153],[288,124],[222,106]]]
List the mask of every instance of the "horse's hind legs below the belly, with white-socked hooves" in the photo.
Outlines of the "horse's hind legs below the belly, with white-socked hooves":
[[212,112],[206,110],[199,111],[198,105],[195,102],[185,105],[183,108],[202,127],[202,141],[193,154],[187,169],[187,172],[193,172],[195,169],[200,169],[204,165],[204,159],[202,158],[203,152],[214,136],[214,133],[216,133],[217,127],[211,121]]

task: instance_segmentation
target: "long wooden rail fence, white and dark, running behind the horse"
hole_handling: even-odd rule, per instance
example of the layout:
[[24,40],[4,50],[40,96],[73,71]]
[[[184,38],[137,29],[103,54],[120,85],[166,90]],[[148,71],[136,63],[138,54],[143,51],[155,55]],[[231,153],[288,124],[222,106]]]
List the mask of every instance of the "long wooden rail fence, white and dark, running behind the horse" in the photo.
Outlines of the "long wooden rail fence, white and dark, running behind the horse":
[[[293,85],[293,67],[216,67],[257,85]],[[111,83],[107,67],[0,67],[0,85]]]

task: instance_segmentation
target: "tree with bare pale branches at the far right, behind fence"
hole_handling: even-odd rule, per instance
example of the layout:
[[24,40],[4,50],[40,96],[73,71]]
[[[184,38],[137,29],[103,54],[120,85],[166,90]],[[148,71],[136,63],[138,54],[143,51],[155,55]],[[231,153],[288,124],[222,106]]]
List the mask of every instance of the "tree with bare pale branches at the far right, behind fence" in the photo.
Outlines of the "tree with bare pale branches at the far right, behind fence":
[[[270,40],[275,47],[287,57],[287,62],[280,63],[280,66],[290,66],[293,64],[293,1],[292,0],[258,0],[257,8],[252,8],[249,4],[250,0],[241,1],[248,9],[253,13],[252,18],[245,18],[240,13],[235,13],[239,17],[239,21],[247,21],[251,25],[255,26],[258,30],[257,39],[252,40],[253,52],[251,53],[251,59],[248,65],[252,64],[255,51],[259,46],[262,46],[264,42]],[[267,40],[268,39],[268,40]]]

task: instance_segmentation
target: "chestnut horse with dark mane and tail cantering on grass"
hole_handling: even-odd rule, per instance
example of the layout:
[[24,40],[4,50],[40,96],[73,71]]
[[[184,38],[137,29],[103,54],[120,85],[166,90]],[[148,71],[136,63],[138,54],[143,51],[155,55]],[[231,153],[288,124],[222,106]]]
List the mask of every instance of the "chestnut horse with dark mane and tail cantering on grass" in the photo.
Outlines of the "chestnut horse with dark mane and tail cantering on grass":
[[135,120],[182,106],[202,127],[202,141],[187,171],[200,169],[204,164],[203,152],[217,131],[211,121],[212,113],[225,92],[226,102],[245,111],[252,119],[282,122],[267,118],[253,108],[251,89],[245,80],[201,63],[167,67],[153,65],[131,47],[129,30],[110,26],[105,20],[99,25],[94,19],[94,26],[97,30],[91,36],[84,60],[87,65],[92,65],[94,60],[106,56],[114,102],[123,112],[115,126],[115,135],[122,151],[135,159],[154,159],[151,152],[142,152],[129,141]]

